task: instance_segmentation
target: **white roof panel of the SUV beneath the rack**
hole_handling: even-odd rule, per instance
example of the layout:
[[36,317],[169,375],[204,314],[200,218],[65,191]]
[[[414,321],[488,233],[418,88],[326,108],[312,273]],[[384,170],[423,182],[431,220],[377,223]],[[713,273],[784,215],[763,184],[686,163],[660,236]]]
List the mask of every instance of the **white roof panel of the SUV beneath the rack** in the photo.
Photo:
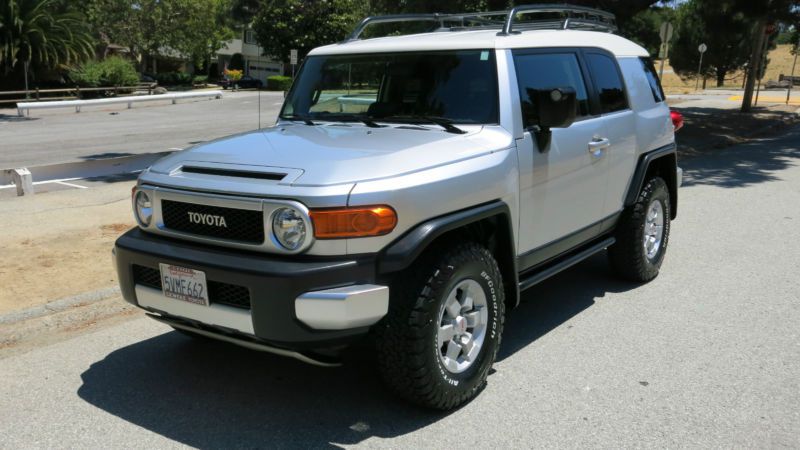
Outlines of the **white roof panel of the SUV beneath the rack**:
[[647,50],[611,33],[580,30],[530,30],[498,36],[499,30],[440,31],[363,39],[318,47],[309,55],[339,55],[434,50],[537,47],[599,47],[617,57],[649,56]]

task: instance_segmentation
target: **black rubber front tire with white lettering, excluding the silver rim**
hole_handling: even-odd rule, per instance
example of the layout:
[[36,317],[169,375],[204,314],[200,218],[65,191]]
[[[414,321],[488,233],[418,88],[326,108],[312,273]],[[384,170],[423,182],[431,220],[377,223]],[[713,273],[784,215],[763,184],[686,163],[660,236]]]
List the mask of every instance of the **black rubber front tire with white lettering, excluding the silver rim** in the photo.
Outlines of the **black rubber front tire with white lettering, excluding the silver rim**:
[[[486,364],[481,380],[459,396],[445,395],[437,389],[434,382],[436,367],[425,363],[424,353],[430,351],[425,338],[425,327],[435,322],[426,305],[437,303],[437,295],[444,288],[450,275],[461,264],[480,260],[487,273],[496,280],[498,295],[498,329],[495,345],[490,348],[490,363]],[[476,243],[463,243],[451,248],[431,249],[426,252],[413,268],[404,276],[398,277],[392,291],[398,297],[391,302],[391,308],[382,326],[377,330],[378,368],[390,390],[396,395],[420,406],[449,410],[475,397],[485,386],[502,338],[505,319],[502,275],[492,254]],[[413,299],[413,300],[409,300]],[[434,313],[435,315],[435,313]]]

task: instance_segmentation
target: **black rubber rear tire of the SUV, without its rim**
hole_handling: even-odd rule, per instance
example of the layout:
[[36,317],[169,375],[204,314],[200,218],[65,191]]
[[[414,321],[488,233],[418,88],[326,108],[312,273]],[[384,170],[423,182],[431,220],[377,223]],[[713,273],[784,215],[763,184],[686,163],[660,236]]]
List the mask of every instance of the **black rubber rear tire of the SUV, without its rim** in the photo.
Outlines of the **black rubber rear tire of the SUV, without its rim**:
[[[642,251],[642,234],[647,215],[647,207],[659,192],[666,194],[664,202],[664,237],[661,242],[661,258],[652,264]],[[658,276],[663,255],[669,244],[670,214],[672,205],[667,183],[660,177],[647,180],[636,203],[625,208],[615,231],[616,243],[608,249],[608,259],[612,270],[621,278],[634,282],[647,282]]]

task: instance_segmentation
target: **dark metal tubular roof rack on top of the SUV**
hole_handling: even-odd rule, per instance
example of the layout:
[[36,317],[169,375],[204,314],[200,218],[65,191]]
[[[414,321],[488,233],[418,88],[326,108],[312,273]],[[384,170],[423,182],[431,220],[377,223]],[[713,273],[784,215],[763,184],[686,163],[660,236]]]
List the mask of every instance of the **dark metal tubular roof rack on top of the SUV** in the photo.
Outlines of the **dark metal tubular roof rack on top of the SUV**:
[[[549,17],[525,21],[517,20],[518,16],[528,14],[547,15]],[[609,12],[584,6],[543,4],[516,6],[507,11],[370,16],[362,20],[344,42],[358,40],[370,25],[400,22],[438,22],[439,28],[435,31],[499,28],[501,31],[497,33],[498,36],[510,36],[519,33],[520,30],[584,29],[609,33],[617,31],[616,17]]]

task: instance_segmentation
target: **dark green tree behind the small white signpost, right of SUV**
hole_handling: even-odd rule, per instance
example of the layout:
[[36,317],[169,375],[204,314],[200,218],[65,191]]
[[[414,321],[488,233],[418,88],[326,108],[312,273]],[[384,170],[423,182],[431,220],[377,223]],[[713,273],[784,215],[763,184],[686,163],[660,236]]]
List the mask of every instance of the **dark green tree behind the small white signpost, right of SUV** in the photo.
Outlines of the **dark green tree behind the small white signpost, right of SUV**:
[[670,49],[670,65],[682,77],[697,74],[700,52],[706,44],[701,76],[714,77],[717,87],[725,76],[741,69],[748,60],[750,20],[725,0],[689,0],[678,8],[676,37]]

